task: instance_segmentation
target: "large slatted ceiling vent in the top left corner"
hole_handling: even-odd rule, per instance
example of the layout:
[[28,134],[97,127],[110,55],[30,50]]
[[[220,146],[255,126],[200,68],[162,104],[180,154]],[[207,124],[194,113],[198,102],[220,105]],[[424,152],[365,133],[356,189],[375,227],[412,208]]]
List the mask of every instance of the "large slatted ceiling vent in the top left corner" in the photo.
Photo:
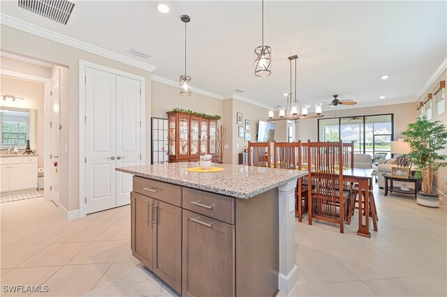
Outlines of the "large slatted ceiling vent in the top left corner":
[[66,0],[19,0],[19,7],[54,22],[67,24],[75,3]]

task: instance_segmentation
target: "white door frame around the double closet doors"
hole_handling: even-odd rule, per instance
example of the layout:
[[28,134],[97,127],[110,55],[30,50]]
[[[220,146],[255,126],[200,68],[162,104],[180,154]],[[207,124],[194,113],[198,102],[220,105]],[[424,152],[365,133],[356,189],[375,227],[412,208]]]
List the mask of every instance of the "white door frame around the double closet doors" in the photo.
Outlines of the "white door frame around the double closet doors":
[[117,70],[115,68],[110,68],[107,66],[102,66],[96,63],[91,63],[85,60],[79,60],[79,217],[85,217],[85,199],[87,197],[87,167],[85,166],[85,90],[86,90],[86,68],[94,68],[96,70],[101,70],[107,73],[112,73],[115,75],[122,75],[124,77],[129,77],[131,79],[136,79],[140,81],[141,84],[141,100],[140,100],[140,119],[141,119],[141,164],[146,164],[146,79],[140,75],[134,75],[132,73],[126,73],[122,70]]

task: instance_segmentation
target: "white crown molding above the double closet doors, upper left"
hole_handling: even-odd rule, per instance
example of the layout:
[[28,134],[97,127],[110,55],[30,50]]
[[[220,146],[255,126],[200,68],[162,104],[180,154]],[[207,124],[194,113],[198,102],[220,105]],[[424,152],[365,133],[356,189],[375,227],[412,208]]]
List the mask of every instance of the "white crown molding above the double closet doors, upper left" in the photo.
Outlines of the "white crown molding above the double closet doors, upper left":
[[9,15],[5,15],[3,13],[0,14],[0,24],[4,24],[6,26],[10,26],[15,29],[25,31],[27,33],[31,33],[36,36],[41,36],[43,38],[56,41],[57,43],[62,43],[64,45],[68,45],[70,47],[75,47],[79,50],[90,52],[91,54],[97,54],[98,56],[103,56],[105,58],[118,61],[136,68],[140,68],[142,70],[147,70],[149,72],[156,70],[156,66],[152,66],[147,63],[142,63],[141,61],[129,58],[127,56],[123,56],[122,54],[116,54],[115,52],[110,52],[109,50],[105,50],[101,47],[90,45],[89,43],[85,43],[80,40],[64,36],[54,31],[44,29],[40,26],[35,26],[34,24],[24,22],[22,20],[16,19],[15,17],[10,17]]

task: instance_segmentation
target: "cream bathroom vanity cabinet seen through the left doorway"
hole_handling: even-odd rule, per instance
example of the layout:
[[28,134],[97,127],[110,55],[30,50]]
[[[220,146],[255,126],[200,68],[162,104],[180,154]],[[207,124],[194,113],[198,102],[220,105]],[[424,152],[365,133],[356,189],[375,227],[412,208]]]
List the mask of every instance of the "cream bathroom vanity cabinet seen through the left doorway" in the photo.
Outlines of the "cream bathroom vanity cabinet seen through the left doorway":
[[37,189],[37,156],[13,156],[0,159],[0,192]]

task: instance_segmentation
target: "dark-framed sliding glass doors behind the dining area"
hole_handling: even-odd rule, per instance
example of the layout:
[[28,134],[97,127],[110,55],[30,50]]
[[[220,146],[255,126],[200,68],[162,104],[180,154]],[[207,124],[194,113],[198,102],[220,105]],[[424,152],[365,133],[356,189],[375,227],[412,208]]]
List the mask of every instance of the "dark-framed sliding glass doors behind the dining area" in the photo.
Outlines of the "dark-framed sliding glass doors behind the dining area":
[[393,114],[318,119],[318,141],[354,142],[356,153],[390,153]]

